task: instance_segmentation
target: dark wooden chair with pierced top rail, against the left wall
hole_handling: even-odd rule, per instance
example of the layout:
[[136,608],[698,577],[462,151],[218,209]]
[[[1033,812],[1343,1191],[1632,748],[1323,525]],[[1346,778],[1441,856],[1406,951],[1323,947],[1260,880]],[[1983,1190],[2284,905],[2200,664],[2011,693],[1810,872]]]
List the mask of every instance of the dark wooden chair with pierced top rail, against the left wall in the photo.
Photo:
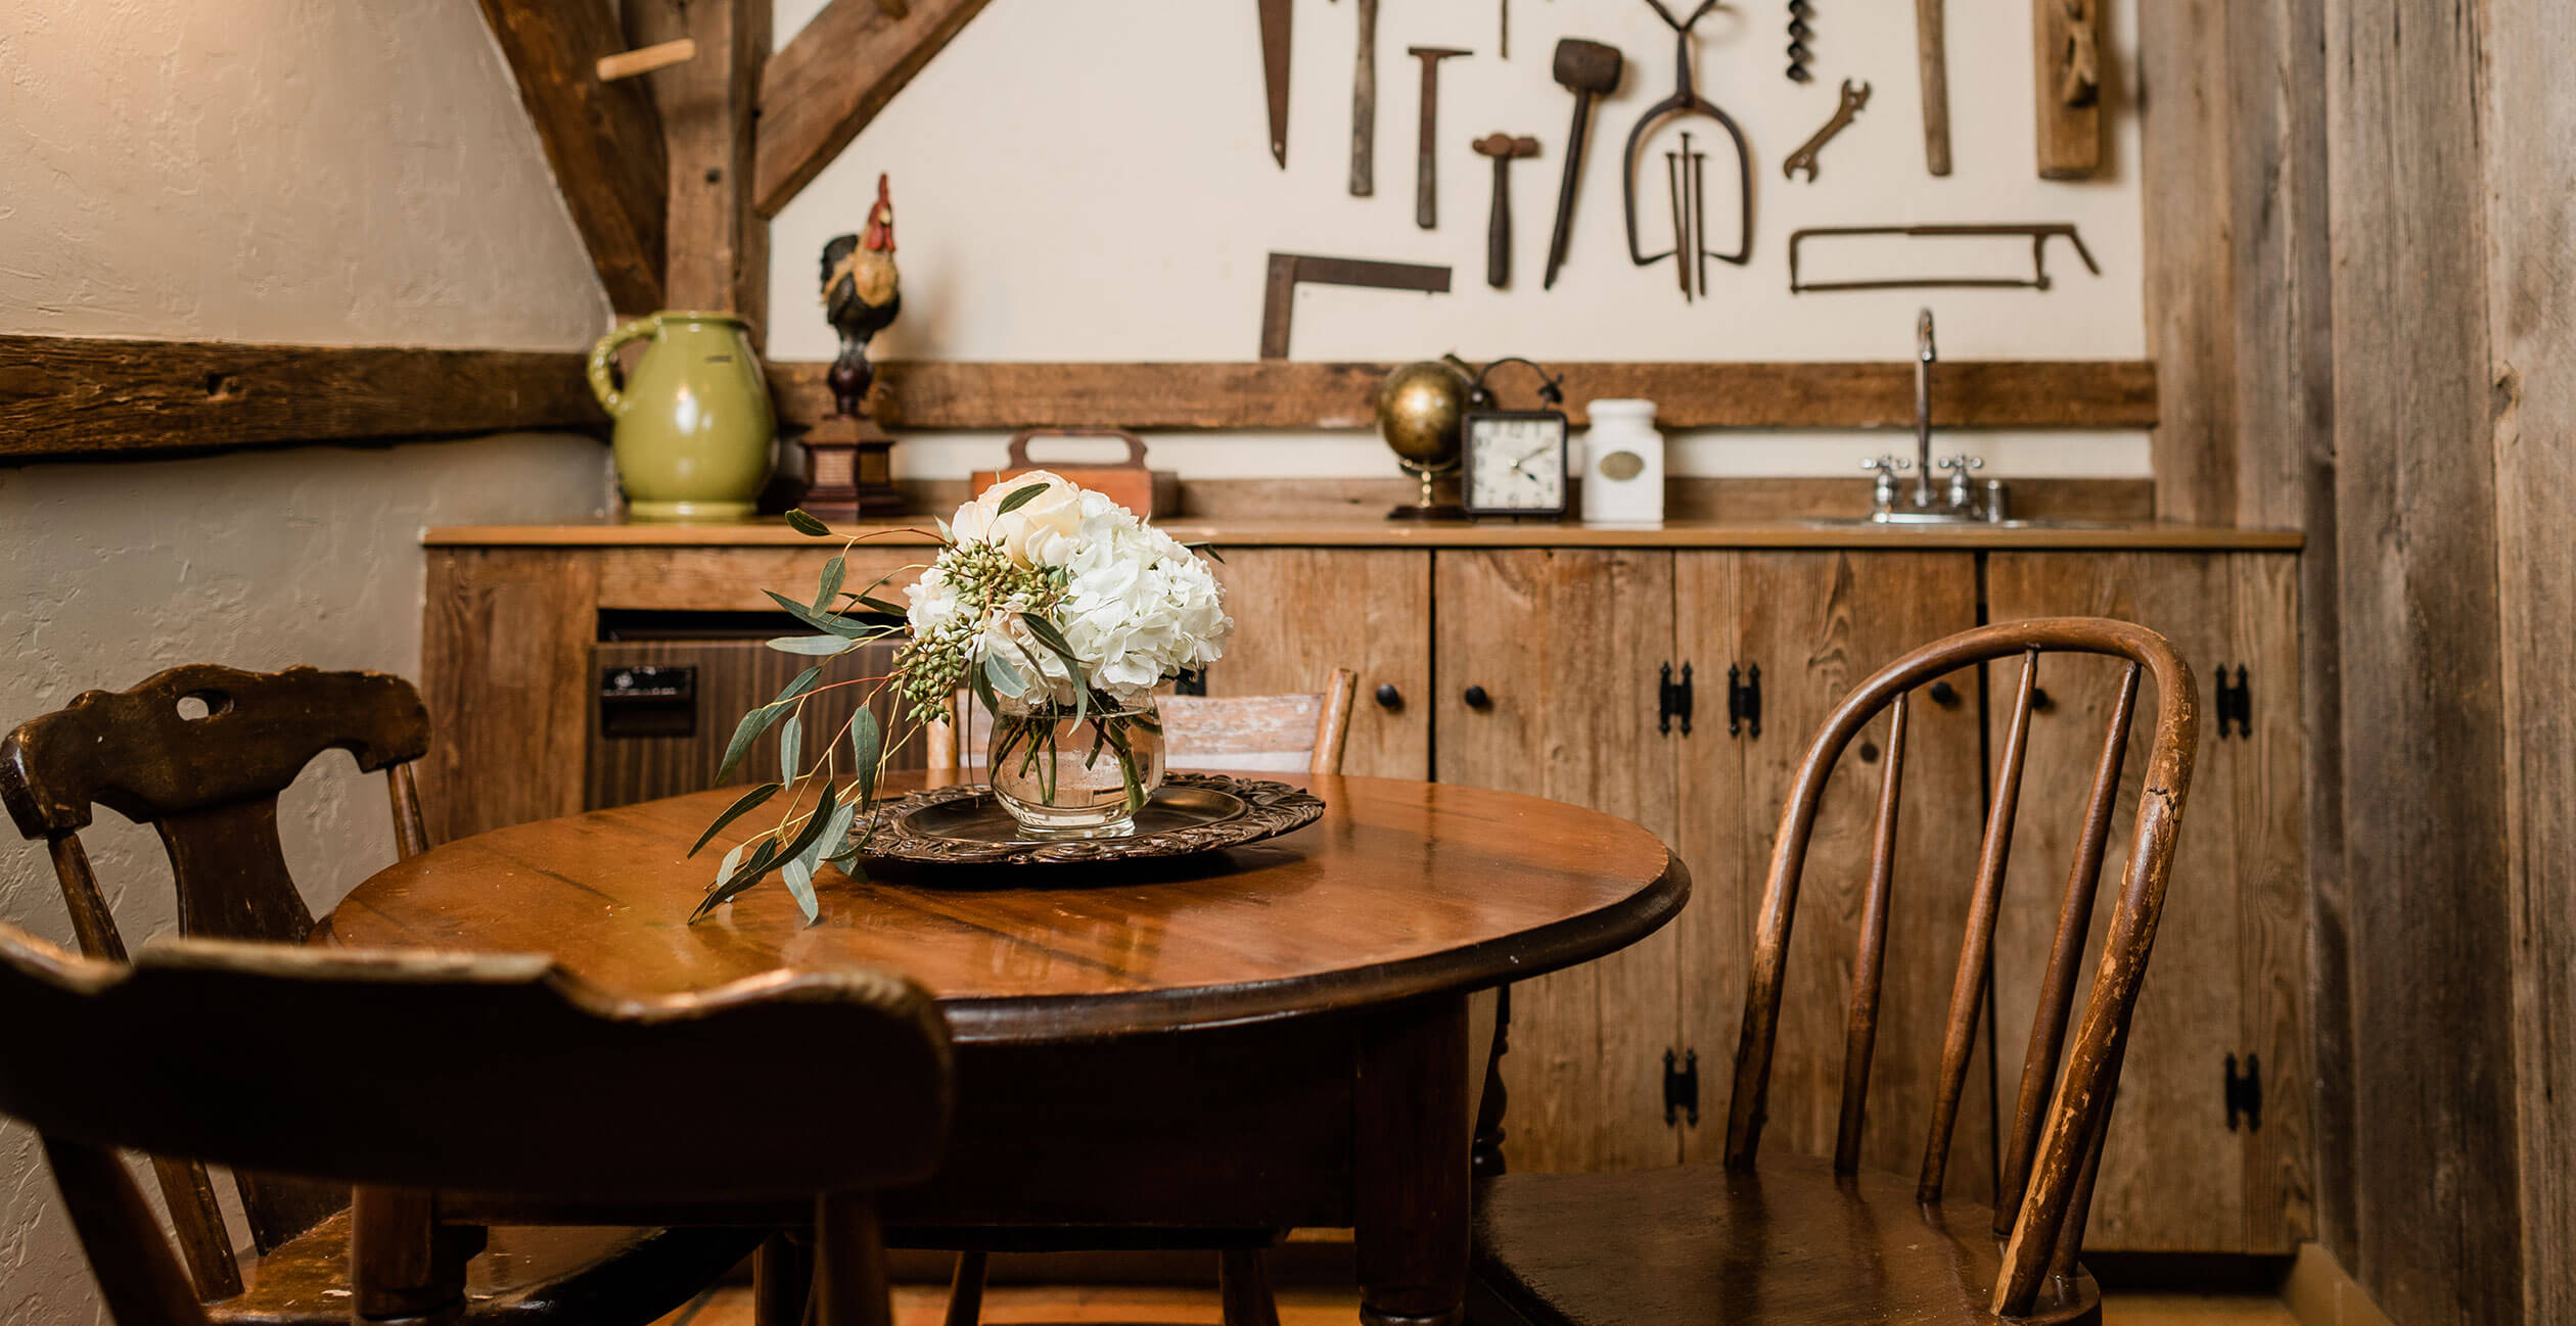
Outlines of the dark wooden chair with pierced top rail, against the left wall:
[[[80,845],[93,806],[160,832],[178,886],[180,935],[301,945],[314,919],[286,873],[278,793],[322,752],[345,749],[361,772],[384,770],[394,845],[410,857],[428,850],[412,783],[412,762],[428,744],[430,716],[402,677],[191,664],[134,690],[90,690],[0,739],[0,803],[8,803],[21,834],[46,842],[72,935],[90,958],[126,958],[124,935]],[[340,1056],[348,1045],[317,1035],[307,1009],[276,1012],[278,1022],[240,1025],[216,1043],[232,1045],[245,1076],[273,1079],[276,1089],[312,1097],[345,1092]],[[113,1053],[131,1051],[118,1045]],[[232,1102],[204,1094],[173,1099],[232,1110]],[[155,1156],[152,1169],[196,1300],[211,1318],[319,1323],[348,1316],[348,1300],[337,1298],[348,1287],[345,1182],[234,1172],[255,1249],[252,1259],[237,1262],[206,1166]],[[471,1267],[474,1293],[487,1316],[526,1323],[567,1313],[649,1321],[688,1303],[757,1241],[757,1233],[737,1228],[495,1228],[489,1256]]]

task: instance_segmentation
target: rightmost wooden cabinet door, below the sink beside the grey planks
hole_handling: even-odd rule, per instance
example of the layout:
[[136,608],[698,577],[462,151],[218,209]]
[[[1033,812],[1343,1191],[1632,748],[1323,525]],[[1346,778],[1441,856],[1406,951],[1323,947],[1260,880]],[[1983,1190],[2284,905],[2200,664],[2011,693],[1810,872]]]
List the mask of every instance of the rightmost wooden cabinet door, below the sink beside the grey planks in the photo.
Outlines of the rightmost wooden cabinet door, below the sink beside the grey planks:
[[[2298,1048],[2300,816],[2295,559],[2272,554],[1994,554],[1991,621],[2105,615],[2151,626],[2200,685],[2200,749],[2164,919],[2130,1025],[2087,1244],[2117,1251],[2287,1251],[2306,1208]],[[2259,687],[2254,739],[2221,736],[2215,677]],[[2012,667],[1999,667],[2009,685]],[[2120,664],[2050,657],[1996,937],[1996,1092],[2020,1089],[2040,973],[2074,860]],[[2141,685],[2102,881],[2117,881],[2136,824],[2154,685]],[[2002,713],[1996,713],[2002,721]],[[2092,960],[2110,924],[2094,911]],[[2079,994],[2081,996],[2081,994]],[[2264,1069],[2262,1130],[2228,1128],[2228,1056]],[[2007,1125],[2009,1128],[2009,1125]]]

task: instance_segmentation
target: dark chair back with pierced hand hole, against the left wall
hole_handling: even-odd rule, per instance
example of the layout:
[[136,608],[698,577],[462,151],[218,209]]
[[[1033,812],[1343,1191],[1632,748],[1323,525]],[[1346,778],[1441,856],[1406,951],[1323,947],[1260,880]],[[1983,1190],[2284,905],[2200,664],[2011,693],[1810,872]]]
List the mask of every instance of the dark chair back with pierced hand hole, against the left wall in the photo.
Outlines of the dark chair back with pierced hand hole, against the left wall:
[[[26,837],[44,837],[93,958],[124,960],[126,945],[90,860],[75,837],[95,806],[152,824],[178,886],[180,935],[304,942],[312,911],[278,845],[278,793],[327,749],[348,749],[361,772],[386,770],[394,837],[425,847],[410,762],[428,752],[420,693],[381,672],[242,672],[173,667],[131,690],[90,690],[67,708],[0,739],[0,803]],[[234,1038],[237,1043],[237,1038]],[[222,1208],[204,1166],[155,1166],[170,1220],[209,1300],[240,1293]],[[348,1192],[330,1184],[237,1174],[242,1215],[260,1251],[317,1226]]]

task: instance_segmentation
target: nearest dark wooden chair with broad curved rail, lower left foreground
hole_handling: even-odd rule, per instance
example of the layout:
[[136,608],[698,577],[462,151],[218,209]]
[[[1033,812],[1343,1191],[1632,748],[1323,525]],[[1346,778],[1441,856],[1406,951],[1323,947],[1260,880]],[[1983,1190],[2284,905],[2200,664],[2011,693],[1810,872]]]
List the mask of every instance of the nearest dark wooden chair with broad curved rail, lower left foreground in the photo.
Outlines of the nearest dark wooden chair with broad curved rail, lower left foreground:
[[495,1213],[680,1213],[814,1220],[811,1321],[884,1326],[871,1195],[930,1174],[951,1107],[948,1027],[886,971],[616,999],[538,955],[162,940],[126,966],[0,927],[0,1112],[44,1135],[118,1326],[222,1321],[118,1148],[363,1184],[355,1295],[301,1285],[337,1321],[495,1321],[464,1277]]

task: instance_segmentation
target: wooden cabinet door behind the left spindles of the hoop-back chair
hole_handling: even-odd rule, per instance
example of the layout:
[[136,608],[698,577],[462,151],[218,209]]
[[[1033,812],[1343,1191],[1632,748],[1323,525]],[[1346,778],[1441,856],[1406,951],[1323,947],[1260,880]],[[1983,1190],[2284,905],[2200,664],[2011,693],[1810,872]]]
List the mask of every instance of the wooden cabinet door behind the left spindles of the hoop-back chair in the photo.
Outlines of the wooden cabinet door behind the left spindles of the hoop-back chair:
[[[1752,924],[1762,906],[1780,806],[1824,716],[1855,682],[1899,654],[1976,626],[1973,554],[1927,551],[1762,551],[1680,554],[1680,641],[1695,664],[1703,718],[1680,767],[1680,798],[1692,808],[1685,860],[1700,881],[1685,914],[1682,1030],[1700,1053],[1710,1092],[1692,1159],[1726,1146],[1726,1089],[1734,1071]],[[1710,610],[1731,602],[1726,615]],[[1728,736],[1728,669],[1752,685],[1759,667],[1762,726]],[[1862,1164],[1914,1174],[1922,1166],[1940,1038],[1965,935],[1968,881],[1978,842],[1978,690],[1976,675],[1950,677],[1955,698],[1917,705],[1906,736],[1906,783],[1878,1043]],[[1844,752],[1808,845],[1790,927],[1780,1040],[1770,1079],[1767,1148],[1832,1156],[1842,1102],[1842,1051],[1852,1007],[1852,953],[1868,886],[1870,826],[1886,770],[1886,718]],[[1728,767],[1728,747],[1736,767]],[[1726,824],[1731,816],[1731,824]],[[1989,1200],[1991,1076],[1981,1038],[1960,1097],[1947,1190]]]

